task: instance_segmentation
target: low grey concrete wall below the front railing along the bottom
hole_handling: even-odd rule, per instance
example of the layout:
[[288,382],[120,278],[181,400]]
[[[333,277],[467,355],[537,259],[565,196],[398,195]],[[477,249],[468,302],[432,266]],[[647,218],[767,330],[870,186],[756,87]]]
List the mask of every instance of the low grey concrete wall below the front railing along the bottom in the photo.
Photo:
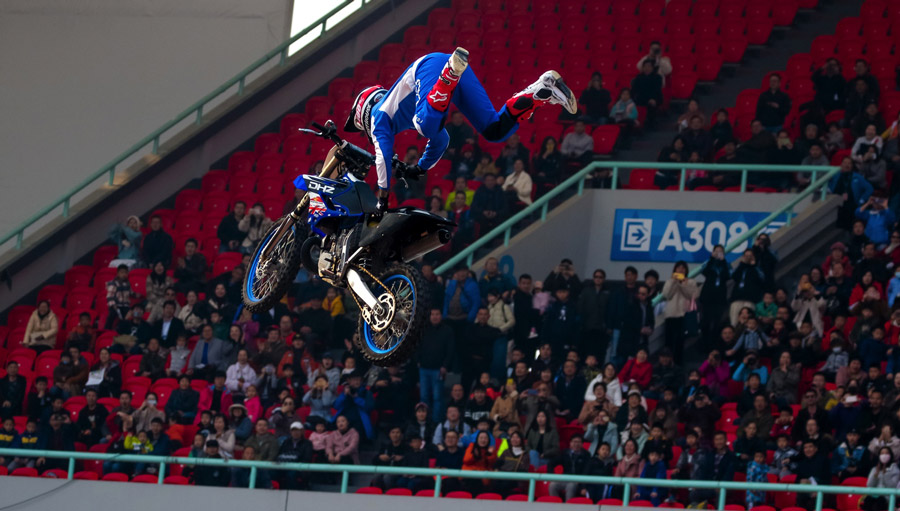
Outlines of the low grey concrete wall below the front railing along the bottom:
[[[458,511],[456,499],[356,495],[324,492],[248,490],[165,486],[104,481],[61,481],[25,477],[0,477],[0,508],[16,511],[96,511],[98,507],[119,507],[127,499],[129,511],[160,509],[228,509],[262,511],[309,511],[311,509],[367,509],[372,511]],[[466,507],[483,511],[513,511],[527,506],[529,511],[551,511],[559,504],[504,501],[469,501]],[[638,509],[638,508],[629,508]],[[638,511],[641,511],[638,509]]]

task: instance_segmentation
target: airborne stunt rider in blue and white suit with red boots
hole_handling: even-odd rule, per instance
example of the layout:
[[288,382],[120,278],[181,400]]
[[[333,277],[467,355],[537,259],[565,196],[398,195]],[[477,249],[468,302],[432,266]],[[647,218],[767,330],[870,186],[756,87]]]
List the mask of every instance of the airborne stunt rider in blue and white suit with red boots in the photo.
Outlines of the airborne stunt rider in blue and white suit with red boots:
[[547,71],[509,98],[498,112],[468,66],[469,52],[463,48],[452,54],[429,53],[410,64],[389,90],[374,85],[356,97],[344,129],[365,133],[375,146],[379,212],[387,210],[394,136],[414,128],[427,138],[417,170],[424,173],[421,169],[431,169],[450,143],[444,129],[450,103],[491,142],[505,140],[518,129],[520,119],[530,118],[541,106],[563,105],[571,114],[578,111],[575,94],[559,73]]

